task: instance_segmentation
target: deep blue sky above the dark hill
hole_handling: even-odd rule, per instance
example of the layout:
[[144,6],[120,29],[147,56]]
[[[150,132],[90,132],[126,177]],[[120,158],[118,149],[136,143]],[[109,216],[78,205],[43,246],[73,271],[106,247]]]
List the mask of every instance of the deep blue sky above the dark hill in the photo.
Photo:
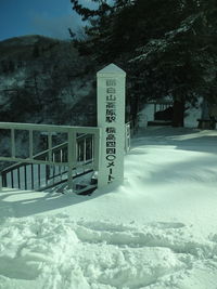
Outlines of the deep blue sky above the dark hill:
[[80,25],[71,0],[0,0],[0,40],[22,35],[66,39],[67,28]]

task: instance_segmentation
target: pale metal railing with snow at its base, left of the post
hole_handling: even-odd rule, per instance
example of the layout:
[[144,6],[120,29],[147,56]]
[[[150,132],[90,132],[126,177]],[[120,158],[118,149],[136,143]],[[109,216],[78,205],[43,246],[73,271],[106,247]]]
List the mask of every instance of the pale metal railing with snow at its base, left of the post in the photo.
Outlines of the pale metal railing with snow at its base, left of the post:
[[[99,170],[101,133],[99,128],[0,122],[0,130],[10,131],[10,154],[9,156],[0,156],[0,161],[16,162],[1,171],[0,187],[2,185],[8,186],[9,174],[11,174],[10,185],[15,187],[16,182],[16,186],[21,187],[22,174],[24,189],[35,189],[35,183],[37,183],[37,189],[40,189],[41,185],[47,187],[51,179],[52,185],[55,185],[62,181],[63,175],[66,175],[68,187],[73,188],[76,169]],[[17,156],[15,137],[16,133],[26,131],[28,132],[27,158]],[[47,149],[35,155],[34,133],[36,132],[46,135]],[[58,134],[64,135],[63,139],[65,140],[53,146]],[[27,184],[29,179],[30,187]],[[44,179],[43,184],[41,179]]]

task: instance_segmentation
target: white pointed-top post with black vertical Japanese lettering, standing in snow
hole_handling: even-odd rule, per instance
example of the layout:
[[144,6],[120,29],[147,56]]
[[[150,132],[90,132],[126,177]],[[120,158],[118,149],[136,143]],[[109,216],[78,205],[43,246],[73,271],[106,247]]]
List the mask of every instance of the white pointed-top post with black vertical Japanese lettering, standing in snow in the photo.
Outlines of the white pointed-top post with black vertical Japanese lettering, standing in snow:
[[102,128],[98,187],[124,180],[126,73],[110,64],[98,77],[98,127]]

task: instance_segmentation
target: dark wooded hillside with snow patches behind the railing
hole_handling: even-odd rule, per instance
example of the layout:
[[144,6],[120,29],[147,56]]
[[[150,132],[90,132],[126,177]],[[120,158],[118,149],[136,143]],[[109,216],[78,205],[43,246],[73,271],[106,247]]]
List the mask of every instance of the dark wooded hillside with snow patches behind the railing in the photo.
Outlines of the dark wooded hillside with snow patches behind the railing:
[[71,41],[37,35],[0,41],[0,120],[94,124],[91,65]]

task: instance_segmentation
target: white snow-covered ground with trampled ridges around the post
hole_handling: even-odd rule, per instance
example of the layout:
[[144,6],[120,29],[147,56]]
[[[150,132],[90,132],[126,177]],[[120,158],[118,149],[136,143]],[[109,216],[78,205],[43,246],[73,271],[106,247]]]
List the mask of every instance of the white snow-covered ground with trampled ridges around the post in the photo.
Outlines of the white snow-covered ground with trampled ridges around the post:
[[217,289],[217,131],[148,128],[92,196],[0,194],[0,289]]

